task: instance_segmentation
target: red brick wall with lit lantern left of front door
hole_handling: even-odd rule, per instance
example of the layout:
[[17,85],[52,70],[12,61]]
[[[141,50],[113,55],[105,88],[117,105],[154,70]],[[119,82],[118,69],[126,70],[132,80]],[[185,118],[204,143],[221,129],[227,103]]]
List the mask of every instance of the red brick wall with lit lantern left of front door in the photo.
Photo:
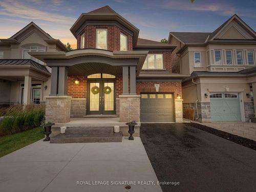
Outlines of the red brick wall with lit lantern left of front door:
[[[75,79],[79,84],[75,84]],[[68,95],[72,98],[86,98],[87,76],[68,76]]]

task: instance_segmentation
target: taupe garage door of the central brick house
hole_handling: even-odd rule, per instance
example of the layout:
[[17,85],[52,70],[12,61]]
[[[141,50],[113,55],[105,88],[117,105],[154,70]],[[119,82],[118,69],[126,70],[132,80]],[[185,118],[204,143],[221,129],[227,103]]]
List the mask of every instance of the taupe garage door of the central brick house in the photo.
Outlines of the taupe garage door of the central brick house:
[[145,93],[140,100],[141,122],[173,122],[174,95]]

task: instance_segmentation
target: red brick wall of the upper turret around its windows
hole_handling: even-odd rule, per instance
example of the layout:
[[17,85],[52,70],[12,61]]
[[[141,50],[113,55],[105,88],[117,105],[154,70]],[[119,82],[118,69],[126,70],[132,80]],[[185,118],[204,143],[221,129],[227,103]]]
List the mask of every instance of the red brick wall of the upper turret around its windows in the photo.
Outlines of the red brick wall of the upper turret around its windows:
[[129,51],[133,50],[133,37],[117,26],[87,26],[78,36],[77,36],[77,49],[80,48],[80,35],[82,33],[84,36],[84,48],[96,48],[96,29],[103,28],[108,29],[108,50],[119,51],[120,50],[120,33],[127,35],[127,49]]

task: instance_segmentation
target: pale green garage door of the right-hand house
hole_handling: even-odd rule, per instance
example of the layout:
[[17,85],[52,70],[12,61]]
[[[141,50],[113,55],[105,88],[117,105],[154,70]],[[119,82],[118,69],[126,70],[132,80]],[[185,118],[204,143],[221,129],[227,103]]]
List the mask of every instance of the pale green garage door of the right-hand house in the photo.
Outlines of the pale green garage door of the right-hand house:
[[211,121],[241,121],[238,94],[210,94]]

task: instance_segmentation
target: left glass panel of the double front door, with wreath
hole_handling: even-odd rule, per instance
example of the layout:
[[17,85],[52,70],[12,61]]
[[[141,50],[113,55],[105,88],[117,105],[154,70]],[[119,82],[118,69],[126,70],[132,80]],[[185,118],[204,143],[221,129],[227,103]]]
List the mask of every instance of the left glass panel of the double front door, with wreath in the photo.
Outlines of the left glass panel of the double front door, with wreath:
[[90,83],[90,111],[99,111],[100,83]]

